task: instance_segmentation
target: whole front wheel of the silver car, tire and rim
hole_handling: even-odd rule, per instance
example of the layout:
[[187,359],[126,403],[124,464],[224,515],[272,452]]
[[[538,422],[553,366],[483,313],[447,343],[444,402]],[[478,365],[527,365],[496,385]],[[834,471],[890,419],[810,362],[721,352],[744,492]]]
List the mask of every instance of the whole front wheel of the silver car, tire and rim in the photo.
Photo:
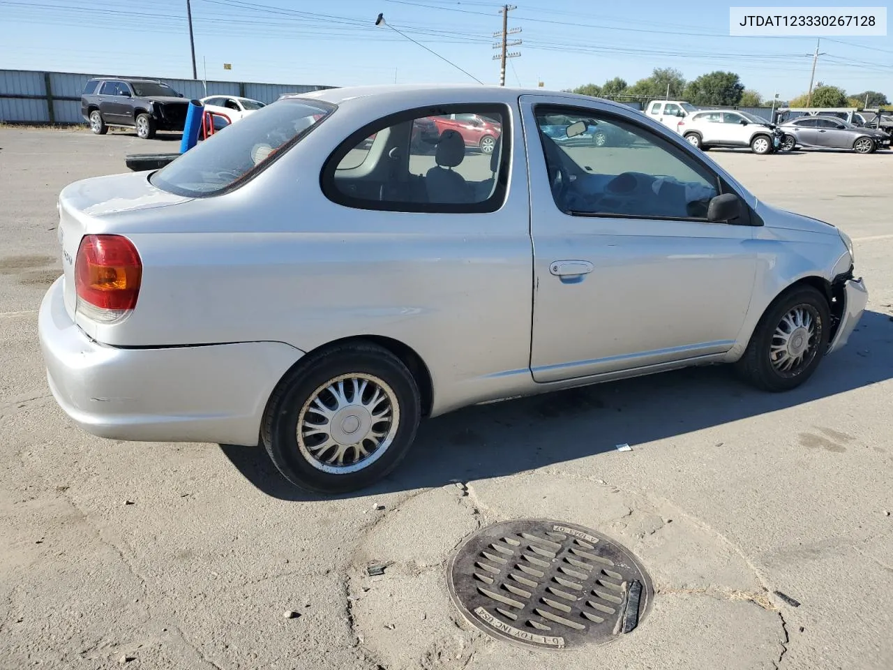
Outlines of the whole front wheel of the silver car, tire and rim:
[[739,374],[759,389],[795,389],[815,372],[830,337],[828,300],[803,286],[778,298],[757,324]]

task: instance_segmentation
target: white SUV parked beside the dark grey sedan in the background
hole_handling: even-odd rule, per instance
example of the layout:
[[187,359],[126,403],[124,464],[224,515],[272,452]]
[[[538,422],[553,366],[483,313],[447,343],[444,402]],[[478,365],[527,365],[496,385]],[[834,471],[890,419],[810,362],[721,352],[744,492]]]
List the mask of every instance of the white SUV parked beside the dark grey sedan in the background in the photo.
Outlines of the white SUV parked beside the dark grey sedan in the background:
[[780,147],[780,132],[764,118],[747,112],[702,110],[680,121],[679,132],[690,145],[750,147],[755,154],[769,154]]

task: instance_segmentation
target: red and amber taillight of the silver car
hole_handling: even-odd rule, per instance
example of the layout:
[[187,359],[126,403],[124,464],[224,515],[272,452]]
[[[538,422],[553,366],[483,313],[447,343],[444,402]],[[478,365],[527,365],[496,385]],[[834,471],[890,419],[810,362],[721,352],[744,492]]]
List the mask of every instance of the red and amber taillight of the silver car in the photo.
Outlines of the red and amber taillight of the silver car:
[[77,311],[101,322],[121,319],[137,306],[143,264],[121,235],[87,235],[74,264]]

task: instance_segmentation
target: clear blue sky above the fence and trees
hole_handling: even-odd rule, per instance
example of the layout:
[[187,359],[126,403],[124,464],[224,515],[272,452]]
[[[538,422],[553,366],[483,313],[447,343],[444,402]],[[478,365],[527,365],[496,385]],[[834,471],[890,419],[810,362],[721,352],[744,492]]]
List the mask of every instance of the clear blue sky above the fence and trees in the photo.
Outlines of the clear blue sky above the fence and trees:
[[[809,85],[815,39],[731,38],[729,4],[514,4],[509,27],[522,29],[513,36],[522,39],[513,47],[522,55],[508,67],[512,86],[542,80],[547,88],[572,88],[614,76],[632,83],[655,67],[678,68],[687,79],[734,71],[747,88],[766,97],[777,91],[782,99]],[[784,3],[797,4],[803,3]],[[209,80],[471,81],[393,30],[375,28],[384,13],[388,23],[463,70],[497,83],[499,63],[491,56],[497,53],[492,35],[502,27],[500,6],[486,0],[192,0],[198,76],[204,59]],[[849,93],[880,90],[893,99],[893,37],[822,38],[821,51],[817,81]],[[0,0],[0,68],[189,78],[186,0]]]

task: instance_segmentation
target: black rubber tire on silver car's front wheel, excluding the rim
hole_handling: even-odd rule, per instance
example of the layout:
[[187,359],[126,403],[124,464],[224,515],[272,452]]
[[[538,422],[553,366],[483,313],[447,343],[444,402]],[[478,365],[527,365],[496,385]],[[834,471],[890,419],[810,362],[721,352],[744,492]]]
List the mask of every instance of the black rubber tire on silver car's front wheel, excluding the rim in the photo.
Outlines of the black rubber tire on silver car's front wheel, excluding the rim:
[[[796,309],[803,309],[814,319],[813,344],[801,364],[787,373],[772,363],[772,340],[782,319]],[[812,286],[798,286],[776,298],[756,325],[744,356],[735,364],[738,373],[758,389],[785,391],[796,389],[809,379],[822,362],[830,335],[828,299]],[[809,340],[807,340],[809,341]]]

